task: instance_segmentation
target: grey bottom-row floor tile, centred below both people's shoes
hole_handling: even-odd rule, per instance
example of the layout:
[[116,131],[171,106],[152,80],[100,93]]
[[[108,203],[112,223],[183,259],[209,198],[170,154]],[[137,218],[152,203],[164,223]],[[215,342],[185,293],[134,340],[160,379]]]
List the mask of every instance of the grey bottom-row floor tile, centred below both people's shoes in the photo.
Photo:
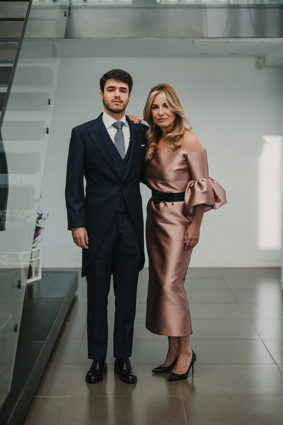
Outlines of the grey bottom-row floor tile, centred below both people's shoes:
[[[95,422],[94,422],[95,418]],[[68,397],[62,425],[186,425],[182,397]]]

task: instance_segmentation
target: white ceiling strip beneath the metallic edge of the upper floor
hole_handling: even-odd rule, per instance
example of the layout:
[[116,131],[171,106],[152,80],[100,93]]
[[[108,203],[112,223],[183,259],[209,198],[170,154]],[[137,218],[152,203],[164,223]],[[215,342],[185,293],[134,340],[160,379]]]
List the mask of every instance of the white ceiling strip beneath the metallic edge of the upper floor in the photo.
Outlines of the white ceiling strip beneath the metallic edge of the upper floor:
[[283,38],[73,38],[65,57],[264,57],[283,67]]

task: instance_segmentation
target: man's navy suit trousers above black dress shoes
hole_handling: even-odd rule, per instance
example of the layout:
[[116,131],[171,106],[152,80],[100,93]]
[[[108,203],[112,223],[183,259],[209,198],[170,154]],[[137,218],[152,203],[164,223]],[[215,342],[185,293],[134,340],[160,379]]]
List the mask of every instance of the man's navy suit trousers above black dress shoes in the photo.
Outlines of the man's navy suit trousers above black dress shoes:
[[115,293],[114,357],[132,354],[140,255],[140,242],[129,212],[117,211],[86,271],[90,359],[106,359],[111,274]]

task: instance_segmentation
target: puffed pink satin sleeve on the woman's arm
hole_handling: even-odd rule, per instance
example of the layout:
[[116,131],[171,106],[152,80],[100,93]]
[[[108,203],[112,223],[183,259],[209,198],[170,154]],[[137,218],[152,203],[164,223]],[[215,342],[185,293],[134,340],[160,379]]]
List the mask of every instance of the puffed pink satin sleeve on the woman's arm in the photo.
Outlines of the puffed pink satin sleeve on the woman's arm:
[[193,207],[205,204],[205,211],[216,210],[227,203],[223,187],[208,176],[206,150],[190,152],[187,156],[191,180],[185,191],[185,207],[189,215],[193,215]]

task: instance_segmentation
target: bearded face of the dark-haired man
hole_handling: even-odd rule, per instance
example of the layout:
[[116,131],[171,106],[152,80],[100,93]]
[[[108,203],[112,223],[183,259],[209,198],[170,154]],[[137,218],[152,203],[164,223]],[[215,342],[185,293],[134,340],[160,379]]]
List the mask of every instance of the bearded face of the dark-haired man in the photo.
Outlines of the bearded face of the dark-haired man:
[[131,98],[129,86],[113,78],[108,79],[104,86],[104,92],[100,92],[100,99],[104,108],[112,113],[121,113],[126,109]]

